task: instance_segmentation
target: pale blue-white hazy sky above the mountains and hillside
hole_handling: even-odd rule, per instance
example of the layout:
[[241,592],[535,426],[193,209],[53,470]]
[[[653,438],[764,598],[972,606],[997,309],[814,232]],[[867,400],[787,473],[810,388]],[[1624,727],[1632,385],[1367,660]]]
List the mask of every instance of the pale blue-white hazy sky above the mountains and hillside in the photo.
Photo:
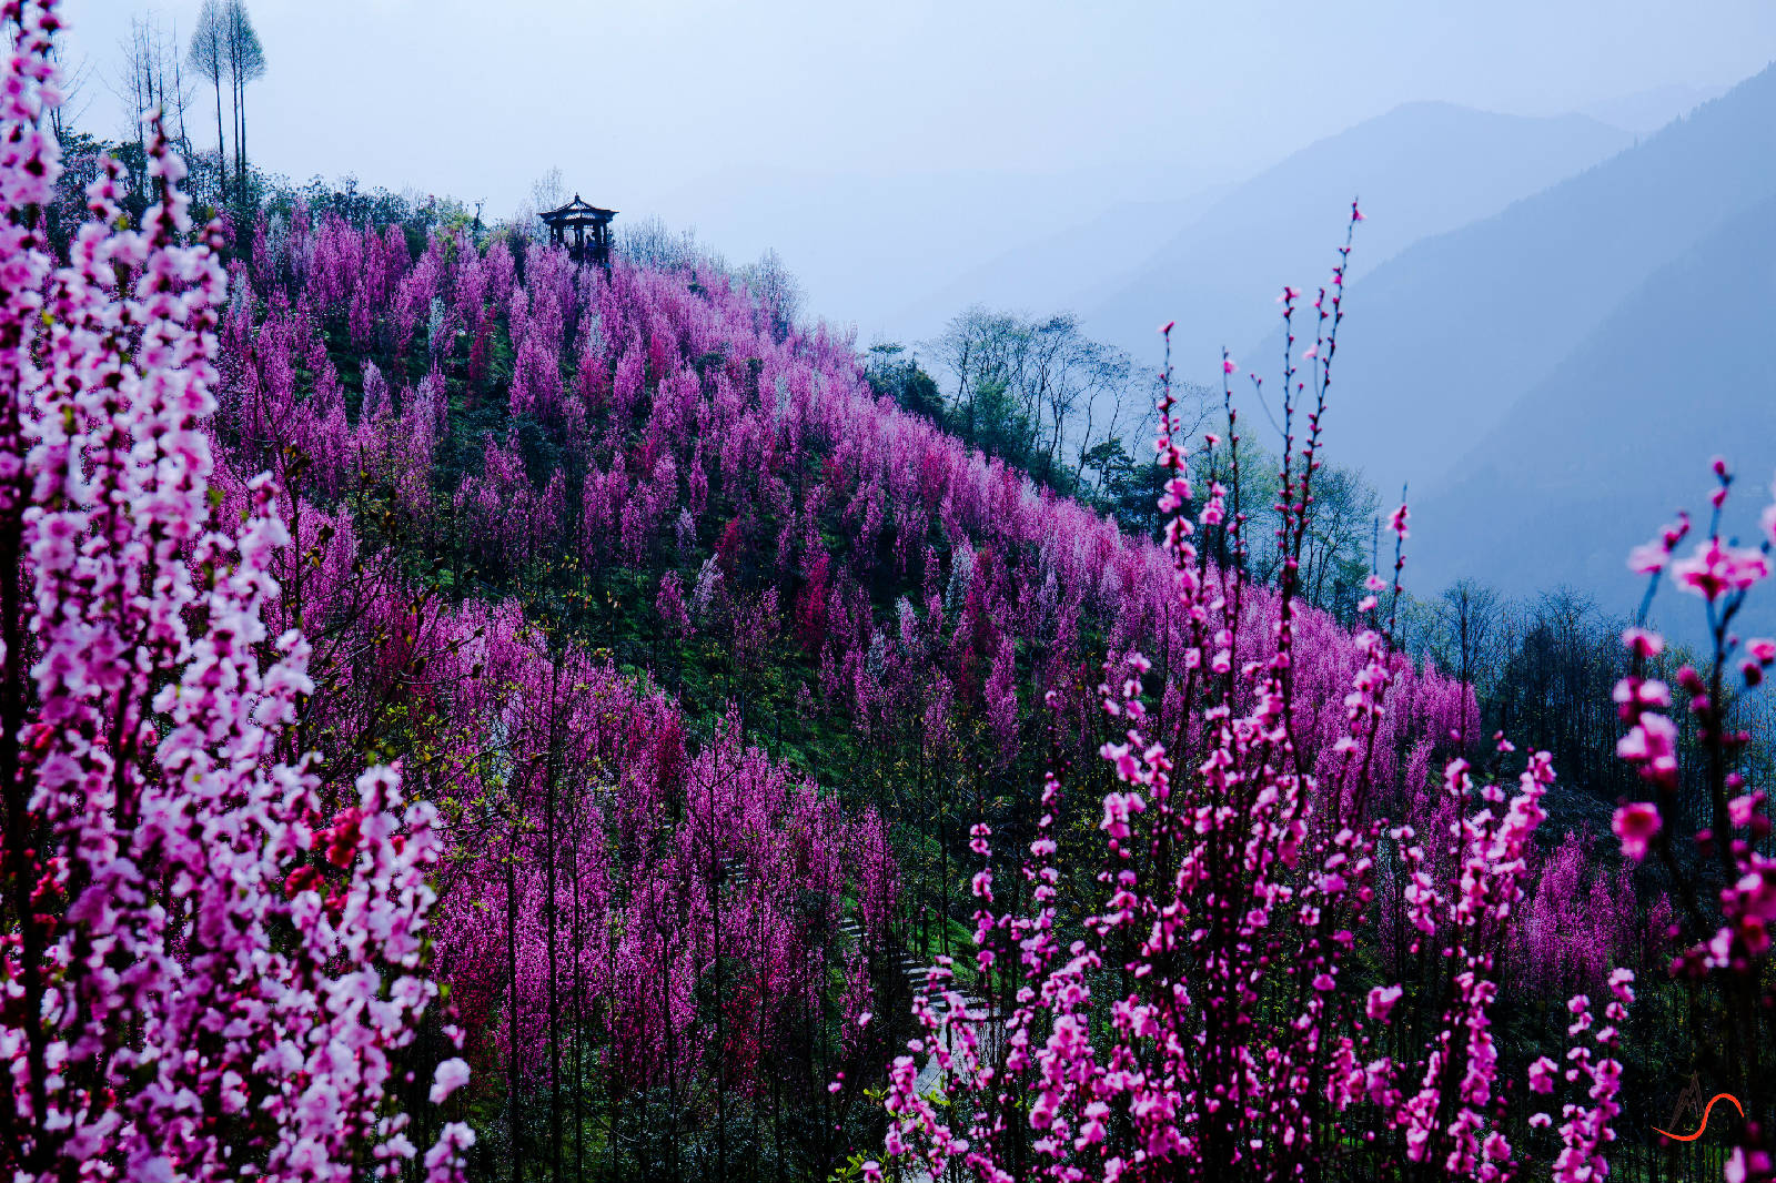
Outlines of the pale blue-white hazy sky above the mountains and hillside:
[[[588,201],[694,226],[732,258],[778,245],[836,320],[867,316],[833,279],[847,252],[929,291],[1403,101],[1563,114],[1776,59],[1776,0],[249,4],[270,64],[247,108],[265,167],[503,213],[559,165]],[[99,75],[89,124],[123,126],[105,80],[130,16],[183,34],[197,7],[66,2]]]

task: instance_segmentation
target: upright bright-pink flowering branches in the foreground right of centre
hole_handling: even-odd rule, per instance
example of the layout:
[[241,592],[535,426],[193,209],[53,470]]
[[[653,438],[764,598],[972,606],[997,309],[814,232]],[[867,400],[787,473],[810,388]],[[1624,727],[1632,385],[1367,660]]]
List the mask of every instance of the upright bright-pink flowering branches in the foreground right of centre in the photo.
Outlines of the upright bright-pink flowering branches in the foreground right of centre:
[[[1307,444],[1291,448],[1282,471],[1284,560],[1312,496],[1344,258],[1316,302]],[[1284,314],[1293,316],[1293,293]],[[1174,471],[1162,506],[1174,513],[1165,533],[1172,615],[1186,622],[1181,652],[1170,654],[1185,671],[1183,709],[1169,703],[1162,730],[1142,695],[1153,663],[1130,652],[1105,666],[1103,709],[1122,734],[1101,755],[1121,783],[1103,801],[1108,856],[1087,936],[1062,949],[1055,934],[1064,872],[1050,833],[1060,798],[1051,773],[1021,865],[1028,906],[996,909],[991,861],[975,876],[970,977],[984,1002],[943,970],[916,1002],[924,1032],[890,1071],[886,1151],[932,1176],[957,1165],[995,1181],[1295,1178],[1380,1128],[1392,1147],[1376,1147],[1382,1160],[1506,1179],[1515,1158],[1495,1116],[1490,1011],[1552,782],[1549,757],[1529,757],[1510,799],[1478,787],[1465,760],[1449,760],[1437,812],[1455,838],[1449,860],[1426,853],[1412,826],[1389,828],[1380,810],[1396,794],[1378,753],[1398,734],[1389,689],[1408,670],[1373,629],[1355,638],[1360,661],[1332,698],[1336,739],[1309,757],[1316,723],[1304,686],[1323,682],[1307,682],[1304,670],[1320,638],[1289,576],[1270,599],[1240,567],[1211,565],[1193,544],[1201,522],[1229,524],[1231,552],[1245,545],[1238,419],[1229,409],[1233,481],[1211,487],[1192,520],[1172,409],[1167,393],[1158,453]],[[1286,400],[1291,442],[1293,412]],[[1391,526],[1403,542],[1403,508]],[[1396,590],[1401,565],[1396,551]],[[1247,611],[1259,613],[1261,629],[1245,623]],[[975,828],[982,860],[989,838],[987,826]],[[1428,1030],[1401,1018],[1401,986],[1355,986],[1352,954],[1378,883],[1405,897],[1417,940],[1442,954],[1433,965],[1447,981],[1424,989],[1435,998],[1442,986],[1451,1002]],[[918,1057],[938,1075],[924,1094]]]

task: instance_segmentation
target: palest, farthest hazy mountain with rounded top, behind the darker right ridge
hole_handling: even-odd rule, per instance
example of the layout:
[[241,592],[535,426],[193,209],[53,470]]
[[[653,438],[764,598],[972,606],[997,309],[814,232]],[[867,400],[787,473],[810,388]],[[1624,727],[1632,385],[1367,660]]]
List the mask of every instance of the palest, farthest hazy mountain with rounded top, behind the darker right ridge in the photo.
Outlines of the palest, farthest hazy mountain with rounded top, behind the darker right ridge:
[[1582,115],[1529,119],[1412,103],[1312,144],[1224,195],[1087,313],[1106,339],[1153,352],[1177,320],[1179,362],[1211,369],[1220,346],[1265,332],[1284,282],[1323,281],[1360,195],[1360,275],[1410,243],[1497,213],[1611,156],[1632,137]]

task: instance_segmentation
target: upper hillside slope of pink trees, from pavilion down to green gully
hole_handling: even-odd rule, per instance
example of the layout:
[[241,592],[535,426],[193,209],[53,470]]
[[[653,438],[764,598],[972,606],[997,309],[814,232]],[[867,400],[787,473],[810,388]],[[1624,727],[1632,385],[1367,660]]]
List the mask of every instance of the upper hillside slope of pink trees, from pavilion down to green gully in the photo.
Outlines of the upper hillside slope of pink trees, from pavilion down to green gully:
[[[1028,785],[1050,721],[1089,750],[1106,650],[1181,677],[1153,542],[877,398],[849,339],[785,330],[705,261],[599,274],[467,234],[416,259],[398,227],[300,213],[256,242],[224,325],[242,471],[295,442],[304,496],[440,593],[515,599],[698,726],[732,703],[852,801],[971,753]],[[1312,620],[1307,730],[1334,735],[1360,647]],[[1433,673],[1394,695],[1401,746],[1467,702]]]

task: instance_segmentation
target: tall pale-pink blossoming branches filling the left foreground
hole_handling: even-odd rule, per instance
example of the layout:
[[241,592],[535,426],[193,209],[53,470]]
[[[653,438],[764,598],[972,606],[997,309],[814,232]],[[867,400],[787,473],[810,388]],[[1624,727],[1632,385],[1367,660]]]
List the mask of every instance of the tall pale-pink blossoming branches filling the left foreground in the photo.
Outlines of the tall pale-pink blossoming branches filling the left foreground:
[[[0,108],[0,1057],[16,1181],[348,1179],[417,1149],[389,1103],[435,988],[430,805],[378,767],[329,831],[281,757],[307,645],[272,638],[288,544],[270,481],[210,496],[224,275],[151,128],[140,231],[121,169],[52,274],[53,4],[14,25]],[[27,695],[28,684],[28,695]],[[432,1179],[472,1135],[446,1130]]]

